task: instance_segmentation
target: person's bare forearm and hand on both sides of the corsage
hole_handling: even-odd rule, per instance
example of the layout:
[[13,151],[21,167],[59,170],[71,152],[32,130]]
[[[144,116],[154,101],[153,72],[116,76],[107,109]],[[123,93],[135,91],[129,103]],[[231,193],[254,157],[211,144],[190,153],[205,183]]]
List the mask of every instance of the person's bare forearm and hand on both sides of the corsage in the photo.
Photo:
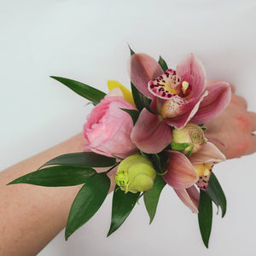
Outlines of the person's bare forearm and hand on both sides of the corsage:
[[[236,96],[233,85],[231,88],[232,99],[228,108],[206,124],[207,137],[214,138],[212,142],[228,159],[256,151],[256,136],[253,135],[256,113],[248,112],[245,99]],[[83,141],[83,135],[79,134],[0,172],[0,255],[35,255],[40,252],[65,227],[69,209],[80,188],[6,184],[37,170],[55,156],[83,151]]]

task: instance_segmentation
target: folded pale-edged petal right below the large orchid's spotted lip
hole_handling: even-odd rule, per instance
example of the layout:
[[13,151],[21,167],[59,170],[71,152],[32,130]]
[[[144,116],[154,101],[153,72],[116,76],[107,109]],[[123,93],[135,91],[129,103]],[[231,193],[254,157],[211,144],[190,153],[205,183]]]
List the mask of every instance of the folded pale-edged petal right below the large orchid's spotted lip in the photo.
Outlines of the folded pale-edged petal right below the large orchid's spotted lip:
[[201,101],[207,96],[207,91],[201,96],[200,99],[193,98],[188,103],[180,107],[180,112],[183,113],[175,118],[165,119],[167,125],[174,126],[177,129],[182,129],[188,124],[190,119],[194,117],[198,108],[200,107]]

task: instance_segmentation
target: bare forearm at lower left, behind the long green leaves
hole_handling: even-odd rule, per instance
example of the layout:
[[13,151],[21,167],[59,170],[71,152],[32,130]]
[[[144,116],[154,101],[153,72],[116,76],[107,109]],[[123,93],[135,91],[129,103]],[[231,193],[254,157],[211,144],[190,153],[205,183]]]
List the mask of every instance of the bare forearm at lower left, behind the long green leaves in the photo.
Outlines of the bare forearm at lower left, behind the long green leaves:
[[57,155],[83,151],[82,142],[83,135],[79,134],[0,172],[0,255],[35,255],[41,251],[65,227],[80,188],[6,184]]

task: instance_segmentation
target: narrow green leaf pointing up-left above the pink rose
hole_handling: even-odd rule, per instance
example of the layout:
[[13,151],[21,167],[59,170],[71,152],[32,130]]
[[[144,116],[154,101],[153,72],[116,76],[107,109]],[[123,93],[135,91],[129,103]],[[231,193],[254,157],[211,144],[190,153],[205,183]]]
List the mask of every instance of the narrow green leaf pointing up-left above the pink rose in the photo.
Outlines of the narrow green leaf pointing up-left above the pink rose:
[[65,84],[69,89],[79,94],[79,96],[82,96],[95,104],[99,103],[106,95],[106,93],[102,92],[102,90],[97,90],[96,88],[93,88],[87,84],[83,84],[72,79],[65,79],[54,76],[51,76],[50,78],[61,82],[61,84]]

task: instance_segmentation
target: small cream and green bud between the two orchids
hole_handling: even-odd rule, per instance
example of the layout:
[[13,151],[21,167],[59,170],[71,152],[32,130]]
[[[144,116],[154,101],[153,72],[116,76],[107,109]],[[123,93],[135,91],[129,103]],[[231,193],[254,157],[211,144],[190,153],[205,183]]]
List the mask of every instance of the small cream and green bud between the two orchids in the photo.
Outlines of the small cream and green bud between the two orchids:
[[183,129],[172,131],[172,149],[183,154],[192,154],[207,143],[204,132],[199,125],[188,124]]

